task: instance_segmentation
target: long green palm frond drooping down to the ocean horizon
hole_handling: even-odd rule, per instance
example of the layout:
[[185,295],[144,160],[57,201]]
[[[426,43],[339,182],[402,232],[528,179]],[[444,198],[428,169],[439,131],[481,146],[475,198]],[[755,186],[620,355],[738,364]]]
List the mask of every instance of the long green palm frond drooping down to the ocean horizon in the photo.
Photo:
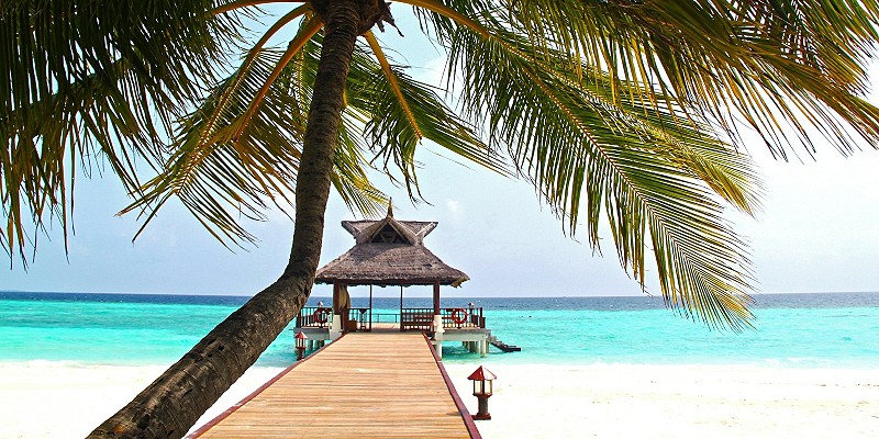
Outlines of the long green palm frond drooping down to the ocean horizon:
[[[669,304],[711,326],[747,325],[746,246],[719,203],[720,195],[755,209],[746,156],[703,134],[704,121],[650,104],[672,99],[648,90],[617,93],[636,86],[590,66],[570,68],[566,53],[535,57],[530,41],[490,18],[476,24],[483,32],[471,31],[472,23],[432,24],[448,48],[449,71],[460,78],[467,114],[492,142],[509,145],[520,172],[567,216],[572,233],[586,216],[590,243],[599,247],[604,212],[621,262],[642,284],[645,249],[653,245]],[[647,92],[659,99],[639,98]]]

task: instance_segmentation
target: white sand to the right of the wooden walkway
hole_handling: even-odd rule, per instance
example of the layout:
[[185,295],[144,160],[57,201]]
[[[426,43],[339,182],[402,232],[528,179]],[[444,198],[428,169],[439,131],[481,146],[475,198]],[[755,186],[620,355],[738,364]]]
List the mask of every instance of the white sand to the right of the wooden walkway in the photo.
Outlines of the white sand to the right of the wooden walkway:
[[[447,368],[471,412],[474,367]],[[876,438],[879,370],[496,365],[486,438]]]

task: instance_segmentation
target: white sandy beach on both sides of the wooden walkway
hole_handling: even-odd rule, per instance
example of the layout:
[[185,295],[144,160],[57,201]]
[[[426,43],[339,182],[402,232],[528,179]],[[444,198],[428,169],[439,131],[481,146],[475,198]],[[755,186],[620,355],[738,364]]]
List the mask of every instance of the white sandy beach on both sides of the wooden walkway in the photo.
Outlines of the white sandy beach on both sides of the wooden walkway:
[[[492,438],[875,438],[879,370],[722,365],[505,365]],[[476,412],[467,375],[447,364]],[[0,363],[0,438],[79,438],[162,372],[160,367]],[[280,369],[254,368],[202,417],[223,412]]]

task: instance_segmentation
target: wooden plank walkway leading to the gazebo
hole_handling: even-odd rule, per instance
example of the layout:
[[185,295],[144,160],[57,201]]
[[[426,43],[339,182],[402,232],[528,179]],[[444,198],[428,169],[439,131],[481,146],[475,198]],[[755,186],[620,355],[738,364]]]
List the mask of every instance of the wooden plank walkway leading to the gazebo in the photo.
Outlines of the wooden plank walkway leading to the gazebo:
[[189,438],[481,438],[422,334],[347,334]]

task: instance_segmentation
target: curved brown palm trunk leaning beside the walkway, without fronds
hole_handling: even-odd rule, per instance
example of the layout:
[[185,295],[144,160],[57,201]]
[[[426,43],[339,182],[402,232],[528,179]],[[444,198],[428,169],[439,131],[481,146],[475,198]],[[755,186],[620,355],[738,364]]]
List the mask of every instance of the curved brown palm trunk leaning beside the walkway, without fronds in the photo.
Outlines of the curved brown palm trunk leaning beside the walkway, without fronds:
[[359,16],[356,0],[327,4],[326,36],[297,177],[293,245],[283,274],[232,313],[89,438],[182,437],[305,304],[321,256],[333,153]]

